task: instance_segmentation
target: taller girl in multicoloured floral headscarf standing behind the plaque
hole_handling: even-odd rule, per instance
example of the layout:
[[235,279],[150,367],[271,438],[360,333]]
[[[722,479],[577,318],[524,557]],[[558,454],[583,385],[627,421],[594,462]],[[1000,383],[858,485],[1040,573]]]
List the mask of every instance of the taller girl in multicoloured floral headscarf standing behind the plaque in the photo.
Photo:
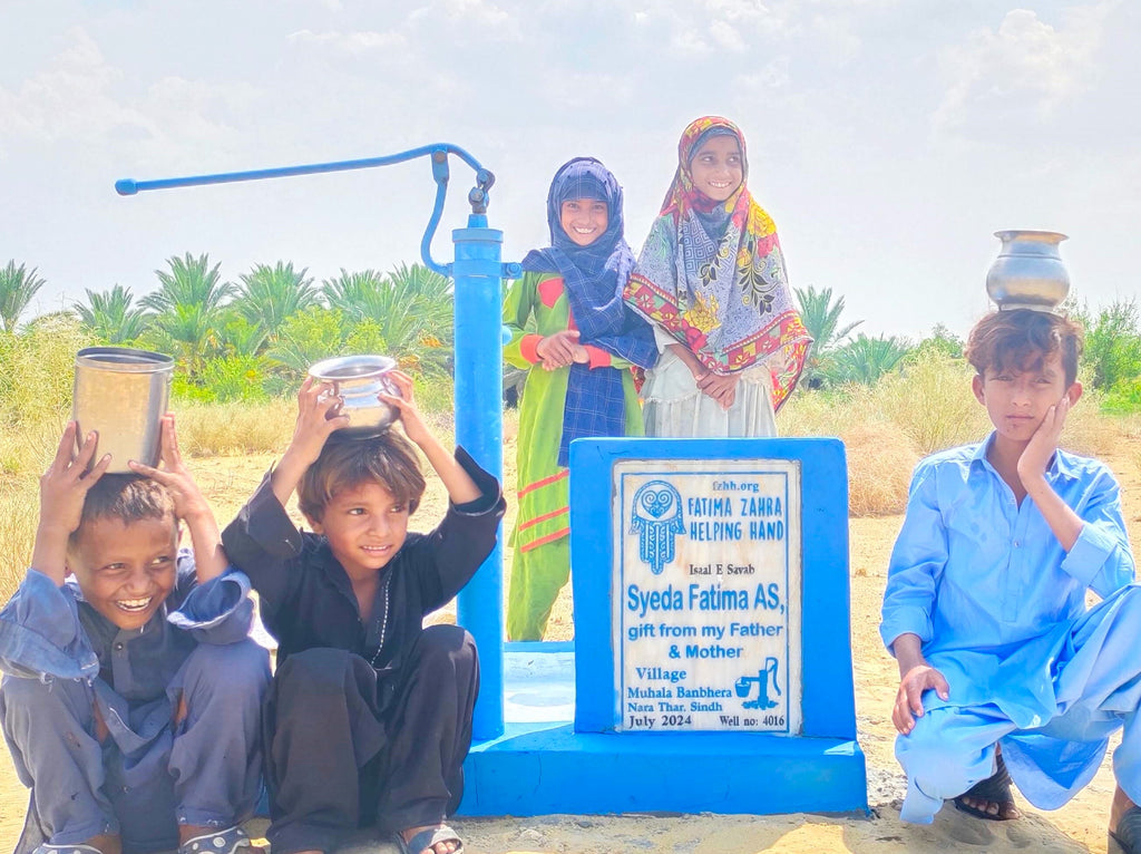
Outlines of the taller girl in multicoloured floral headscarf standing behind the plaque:
[[776,226],[745,179],[728,119],[693,122],[678,171],[626,285],[662,351],[642,388],[649,436],[772,436],[811,343]]

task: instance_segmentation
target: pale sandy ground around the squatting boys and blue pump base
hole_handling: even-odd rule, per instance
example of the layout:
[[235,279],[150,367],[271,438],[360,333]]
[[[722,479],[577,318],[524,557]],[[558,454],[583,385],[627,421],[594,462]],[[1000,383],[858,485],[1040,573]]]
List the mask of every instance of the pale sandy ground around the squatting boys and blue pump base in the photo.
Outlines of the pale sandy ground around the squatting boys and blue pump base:
[[[257,484],[268,461],[267,457],[217,458],[195,460],[193,468],[218,517],[228,519]],[[1124,486],[1132,539],[1141,542],[1138,456],[1123,448],[1108,462]],[[438,518],[442,508],[443,497],[435,494],[426,500],[418,516],[428,524]],[[1015,822],[982,822],[949,806],[931,827],[899,821],[904,779],[892,757],[895,731],[890,720],[898,674],[895,662],[883,652],[876,627],[888,554],[900,523],[898,516],[853,518],[850,529],[856,707],[859,741],[867,756],[872,815],[557,815],[458,821],[467,851],[471,854],[1106,852],[1106,820],[1114,790],[1108,759],[1084,791],[1053,813],[1034,811],[1020,801],[1026,816]],[[566,595],[557,606],[551,635],[570,636]],[[7,758],[0,758],[0,848],[14,847],[26,804],[27,791]],[[395,852],[389,845],[373,840],[359,840],[353,849],[355,854]]]

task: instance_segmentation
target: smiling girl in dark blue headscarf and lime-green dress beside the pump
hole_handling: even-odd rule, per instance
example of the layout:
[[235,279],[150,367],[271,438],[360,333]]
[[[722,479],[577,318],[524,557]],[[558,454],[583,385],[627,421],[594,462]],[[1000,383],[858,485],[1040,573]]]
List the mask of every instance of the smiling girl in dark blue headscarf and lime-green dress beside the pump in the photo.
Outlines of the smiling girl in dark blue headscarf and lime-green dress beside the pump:
[[507,614],[512,640],[542,638],[570,573],[570,442],[641,435],[630,369],[657,361],[649,325],[622,301],[634,257],[614,176],[593,158],[565,163],[547,196],[547,223],[551,245],[523,259],[523,277],[503,305],[511,330],[503,357],[527,369]]

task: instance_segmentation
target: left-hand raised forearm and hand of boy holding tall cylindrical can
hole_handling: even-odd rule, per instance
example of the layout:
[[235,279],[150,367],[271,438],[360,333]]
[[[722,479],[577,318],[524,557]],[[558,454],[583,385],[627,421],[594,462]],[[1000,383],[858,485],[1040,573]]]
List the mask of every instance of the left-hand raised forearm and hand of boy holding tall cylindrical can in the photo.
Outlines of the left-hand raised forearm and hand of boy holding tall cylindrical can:
[[51,465],[40,477],[40,523],[32,548],[32,569],[50,578],[57,587],[63,587],[67,578],[67,538],[79,527],[87,492],[111,465],[111,454],[105,453],[86,472],[95,456],[97,436],[94,432],[87,434],[75,453],[78,429],[75,421],[67,424]]

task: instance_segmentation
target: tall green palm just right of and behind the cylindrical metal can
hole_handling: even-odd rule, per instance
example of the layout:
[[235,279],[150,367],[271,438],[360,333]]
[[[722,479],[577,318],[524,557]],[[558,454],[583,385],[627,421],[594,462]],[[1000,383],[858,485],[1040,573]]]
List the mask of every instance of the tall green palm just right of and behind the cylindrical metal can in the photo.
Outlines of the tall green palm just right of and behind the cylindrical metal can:
[[156,338],[177,352],[191,376],[197,376],[204,354],[218,345],[220,312],[236,288],[222,282],[220,264],[210,266],[208,255],[168,258],[170,271],[155,271],[159,290],[139,304],[155,312]]

